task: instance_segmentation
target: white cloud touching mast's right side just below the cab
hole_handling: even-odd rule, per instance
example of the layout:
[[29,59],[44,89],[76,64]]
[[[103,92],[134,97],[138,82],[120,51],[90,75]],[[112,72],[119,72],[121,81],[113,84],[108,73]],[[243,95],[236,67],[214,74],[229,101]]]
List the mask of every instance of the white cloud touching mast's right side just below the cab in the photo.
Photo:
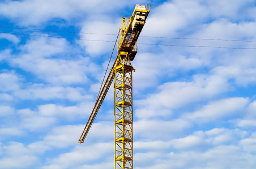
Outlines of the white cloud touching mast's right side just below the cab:
[[204,65],[203,60],[197,57],[182,55],[170,55],[167,52],[161,54],[138,53],[132,63],[135,68],[133,73],[135,94],[137,90],[159,84],[162,78],[175,77],[177,70],[187,72]]

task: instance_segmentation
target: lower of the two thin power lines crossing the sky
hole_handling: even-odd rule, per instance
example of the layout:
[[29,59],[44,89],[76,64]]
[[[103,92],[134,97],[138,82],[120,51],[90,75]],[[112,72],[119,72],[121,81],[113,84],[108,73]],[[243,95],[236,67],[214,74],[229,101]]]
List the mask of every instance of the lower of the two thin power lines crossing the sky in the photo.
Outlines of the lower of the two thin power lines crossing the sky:
[[[73,40],[79,40],[79,41],[115,42],[115,41],[105,41],[105,40],[95,40],[95,39],[78,39],[78,38],[56,37],[56,36],[35,35],[35,34],[21,34],[21,33],[11,33],[11,32],[0,32],[0,33],[35,36],[35,37],[73,39]],[[155,45],[155,46],[173,46],[173,47],[204,47],[204,48],[225,48],[225,49],[236,49],[236,50],[256,50],[256,48],[221,47],[221,46],[165,45],[165,44],[155,44],[155,43],[138,43],[138,44],[140,44],[140,45]]]

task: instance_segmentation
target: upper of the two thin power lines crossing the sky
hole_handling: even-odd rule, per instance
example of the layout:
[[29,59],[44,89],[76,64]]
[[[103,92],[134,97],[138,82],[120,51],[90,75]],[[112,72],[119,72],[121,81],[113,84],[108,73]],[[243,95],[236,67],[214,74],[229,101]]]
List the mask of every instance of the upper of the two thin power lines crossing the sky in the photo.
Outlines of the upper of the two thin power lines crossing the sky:
[[[9,27],[9,26],[0,26],[0,28],[25,29],[25,30],[40,30],[40,31],[48,31],[48,32],[63,32],[63,33],[76,33],[76,34],[117,35],[117,34],[107,34],[107,33],[85,33],[85,32],[62,31],[62,30],[49,30],[49,29],[17,28],[17,27]],[[256,41],[238,40],[238,39],[175,38],[175,37],[155,37],[155,36],[147,36],[147,35],[144,35],[144,36],[143,36],[143,35],[140,35],[140,37],[144,37],[144,38],[160,38],[160,39],[204,40],[204,41],[256,42]]]

